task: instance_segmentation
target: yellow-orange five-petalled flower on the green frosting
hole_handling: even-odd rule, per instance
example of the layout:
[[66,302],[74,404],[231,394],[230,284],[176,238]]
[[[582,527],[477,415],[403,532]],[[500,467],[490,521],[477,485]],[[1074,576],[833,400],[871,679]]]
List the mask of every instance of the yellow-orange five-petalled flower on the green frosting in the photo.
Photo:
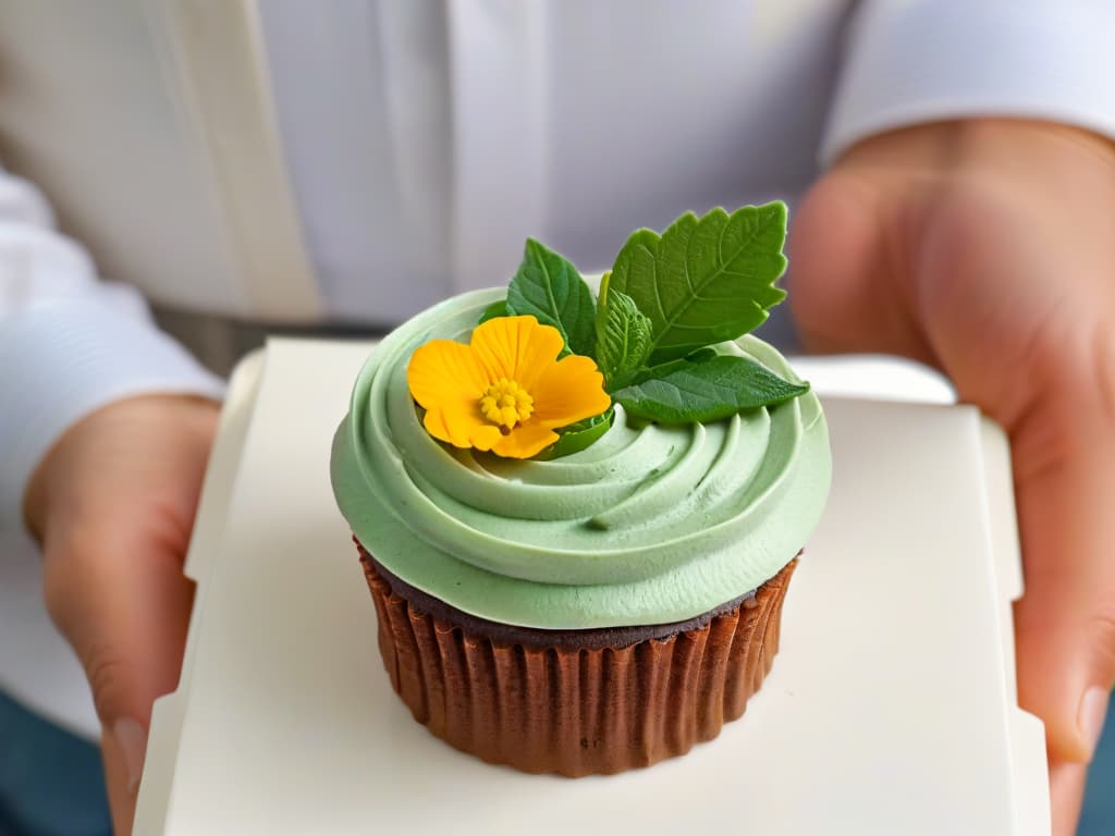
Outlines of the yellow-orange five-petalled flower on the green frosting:
[[454,447],[530,458],[558,440],[555,428],[600,415],[611,398],[591,358],[561,360],[561,332],[534,317],[496,317],[467,346],[433,340],[407,367],[423,424]]

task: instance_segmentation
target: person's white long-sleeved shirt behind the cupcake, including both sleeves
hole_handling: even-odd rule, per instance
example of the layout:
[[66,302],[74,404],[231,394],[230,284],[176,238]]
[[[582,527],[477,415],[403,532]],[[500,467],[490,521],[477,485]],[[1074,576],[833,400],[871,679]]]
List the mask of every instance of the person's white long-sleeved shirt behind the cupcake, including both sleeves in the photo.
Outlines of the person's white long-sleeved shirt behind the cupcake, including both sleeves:
[[220,395],[144,294],[385,325],[504,284],[527,235],[607,266],[637,226],[792,201],[902,125],[1009,115],[1115,137],[1106,0],[47,6],[0,30],[0,137],[118,281],[0,173],[0,529],[83,416]]

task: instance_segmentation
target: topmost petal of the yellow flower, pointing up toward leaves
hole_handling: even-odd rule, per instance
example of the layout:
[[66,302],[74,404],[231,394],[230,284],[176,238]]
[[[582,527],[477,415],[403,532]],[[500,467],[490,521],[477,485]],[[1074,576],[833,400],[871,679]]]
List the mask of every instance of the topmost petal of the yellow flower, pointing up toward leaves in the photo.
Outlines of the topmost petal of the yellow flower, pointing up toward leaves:
[[[561,332],[534,317],[496,317],[473,331],[471,346],[487,375],[514,380],[529,392],[564,347]],[[533,392],[531,392],[533,395]]]

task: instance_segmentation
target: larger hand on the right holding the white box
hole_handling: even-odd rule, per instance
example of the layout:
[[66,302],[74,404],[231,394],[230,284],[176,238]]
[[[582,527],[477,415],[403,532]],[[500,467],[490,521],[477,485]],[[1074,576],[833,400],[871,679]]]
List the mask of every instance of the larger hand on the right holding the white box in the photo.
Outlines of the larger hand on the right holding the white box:
[[1115,679],[1115,146],[1020,120],[874,137],[789,245],[807,346],[937,366],[1010,434],[1019,701],[1046,725],[1054,832],[1074,833]]

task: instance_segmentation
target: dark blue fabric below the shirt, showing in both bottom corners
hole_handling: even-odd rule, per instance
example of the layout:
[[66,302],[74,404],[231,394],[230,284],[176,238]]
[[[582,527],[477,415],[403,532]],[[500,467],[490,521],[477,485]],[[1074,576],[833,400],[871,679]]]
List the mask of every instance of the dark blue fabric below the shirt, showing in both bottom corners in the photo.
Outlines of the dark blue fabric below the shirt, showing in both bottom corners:
[[[0,836],[109,836],[96,747],[0,692]],[[1115,834],[1115,704],[1092,764],[1078,836]]]

